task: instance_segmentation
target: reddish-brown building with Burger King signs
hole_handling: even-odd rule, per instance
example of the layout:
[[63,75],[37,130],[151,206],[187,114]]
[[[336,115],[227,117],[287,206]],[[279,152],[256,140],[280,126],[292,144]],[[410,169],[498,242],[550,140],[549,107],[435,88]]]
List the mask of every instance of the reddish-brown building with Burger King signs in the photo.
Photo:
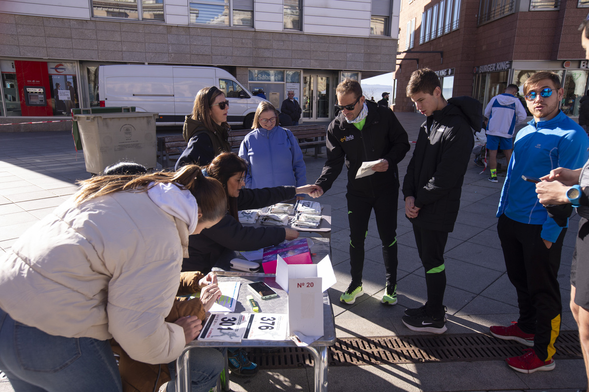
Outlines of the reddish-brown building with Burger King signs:
[[549,70],[561,77],[562,111],[578,116],[589,68],[577,29],[587,7],[586,0],[403,0],[395,110],[415,110],[405,89],[418,67],[438,73],[445,98],[468,95],[484,106],[510,83],[523,95],[532,73]]

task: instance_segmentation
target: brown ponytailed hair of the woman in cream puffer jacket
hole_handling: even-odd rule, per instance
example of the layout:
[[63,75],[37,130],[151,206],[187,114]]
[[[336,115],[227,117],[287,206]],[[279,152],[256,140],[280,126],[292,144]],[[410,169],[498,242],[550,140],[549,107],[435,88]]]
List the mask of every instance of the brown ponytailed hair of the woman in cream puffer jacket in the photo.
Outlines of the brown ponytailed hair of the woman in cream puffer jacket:
[[[153,183],[151,186],[150,183]],[[75,193],[76,203],[114,192],[135,190],[146,192],[158,183],[174,183],[180,189],[188,189],[196,198],[202,220],[217,220],[227,213],[227,196],[221,183],[205,177],[197,165],[186,165],[178,172],[155,172],[144,175],[95,176],[78,182],[80,190]]]

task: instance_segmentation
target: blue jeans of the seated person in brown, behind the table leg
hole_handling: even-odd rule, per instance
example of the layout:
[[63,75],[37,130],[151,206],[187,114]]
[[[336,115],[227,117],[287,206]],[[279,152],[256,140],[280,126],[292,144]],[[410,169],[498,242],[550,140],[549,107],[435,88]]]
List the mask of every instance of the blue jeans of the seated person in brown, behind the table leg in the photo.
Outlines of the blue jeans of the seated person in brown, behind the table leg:
[[[208,392],[217,384],[219,374],[225,368],[225,351],[213,347],[196,347],[190,350],[190,392]],[[171,381],[166,392],[176,392],[176,362],[168,364]]]

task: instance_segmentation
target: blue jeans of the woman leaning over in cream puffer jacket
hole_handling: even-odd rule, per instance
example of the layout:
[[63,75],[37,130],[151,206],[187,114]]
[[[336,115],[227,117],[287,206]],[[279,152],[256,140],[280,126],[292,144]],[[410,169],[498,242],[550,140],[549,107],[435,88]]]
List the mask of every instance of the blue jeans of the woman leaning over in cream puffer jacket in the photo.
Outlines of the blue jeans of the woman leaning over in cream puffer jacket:
[[0,369],[16,392],[123,390],[108,340],[49,335],[2,309]]

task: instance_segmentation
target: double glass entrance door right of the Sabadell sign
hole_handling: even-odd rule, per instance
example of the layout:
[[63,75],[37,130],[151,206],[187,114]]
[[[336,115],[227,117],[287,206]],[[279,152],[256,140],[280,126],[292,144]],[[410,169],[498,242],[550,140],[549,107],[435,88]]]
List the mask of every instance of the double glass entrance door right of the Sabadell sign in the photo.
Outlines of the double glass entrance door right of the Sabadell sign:
[[331,118],[331,79],[328,75],[303,76],[303,118],[326,120]]

